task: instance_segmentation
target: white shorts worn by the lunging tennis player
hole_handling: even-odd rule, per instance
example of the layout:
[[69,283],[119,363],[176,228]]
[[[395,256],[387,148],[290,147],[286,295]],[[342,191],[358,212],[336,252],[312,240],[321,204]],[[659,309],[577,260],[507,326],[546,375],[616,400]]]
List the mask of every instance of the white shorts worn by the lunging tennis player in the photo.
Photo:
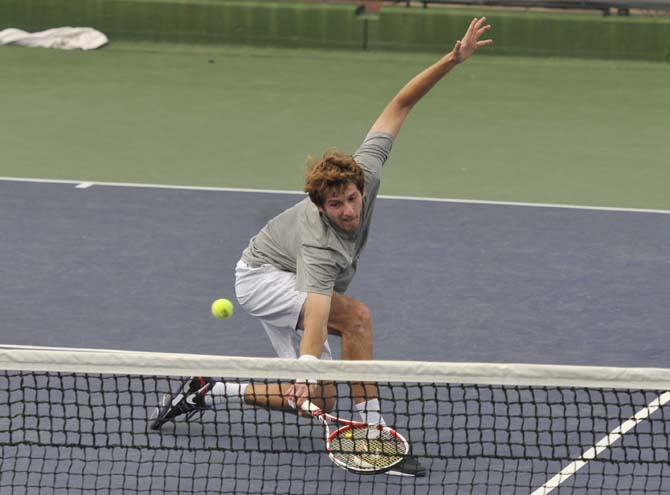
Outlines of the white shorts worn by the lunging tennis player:
[[[297,330],[306,292],[295,288],[295,273],[272,265],[252,268],[240,260],[235,267],[235,295],[240,306],[258,318],[270,337],[272,347],[281,358],[300,355],[301,330]],[[332,359],[328,341],[321,359]]]

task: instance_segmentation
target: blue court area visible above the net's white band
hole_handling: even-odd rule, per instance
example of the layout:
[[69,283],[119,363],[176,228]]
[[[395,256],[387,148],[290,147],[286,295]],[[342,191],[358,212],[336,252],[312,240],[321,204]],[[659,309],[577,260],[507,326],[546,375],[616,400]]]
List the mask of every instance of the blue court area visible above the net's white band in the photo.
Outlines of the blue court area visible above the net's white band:
[[[249,238],[299,195],[0,188],[4,343],[274,355],[243,311],[216,321],[209,306],[234,299]],[[378,359],[663,367],[667,222],[381,199],[350,293],[373,312]]]

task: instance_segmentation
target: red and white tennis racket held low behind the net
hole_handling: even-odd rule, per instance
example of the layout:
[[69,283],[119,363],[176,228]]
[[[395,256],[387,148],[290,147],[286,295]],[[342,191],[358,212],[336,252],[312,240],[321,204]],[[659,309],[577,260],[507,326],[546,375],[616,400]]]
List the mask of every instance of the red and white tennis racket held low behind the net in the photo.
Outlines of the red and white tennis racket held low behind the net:
[[[326,427],[326,451],[339,467],[356,473],[383,473],[409,455],[409,443],[393,428],[349,421],[323,412],[306,400],[302,410]],[[330,432],[329,421],[343,424]]]

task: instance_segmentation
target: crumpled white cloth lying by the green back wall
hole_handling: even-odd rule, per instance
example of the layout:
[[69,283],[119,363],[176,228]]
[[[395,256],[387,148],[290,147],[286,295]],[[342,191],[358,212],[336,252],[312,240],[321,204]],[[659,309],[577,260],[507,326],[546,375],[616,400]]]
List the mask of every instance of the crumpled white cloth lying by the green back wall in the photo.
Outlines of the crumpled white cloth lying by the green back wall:
[[63,50],[94,50],[109,40],[100,31],[86,27],[60,27],[37,33],[8,28],[0,31],[0,45],[39,46]]

